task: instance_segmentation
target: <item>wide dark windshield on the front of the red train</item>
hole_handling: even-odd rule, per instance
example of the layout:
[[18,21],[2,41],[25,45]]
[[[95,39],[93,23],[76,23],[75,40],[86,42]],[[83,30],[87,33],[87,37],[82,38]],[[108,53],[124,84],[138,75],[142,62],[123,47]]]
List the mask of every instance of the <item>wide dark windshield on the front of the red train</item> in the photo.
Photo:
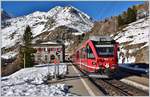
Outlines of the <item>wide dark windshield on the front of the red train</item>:
[[112,57],[114,55],[113,45],[96,45],[96,51],[102,57]]

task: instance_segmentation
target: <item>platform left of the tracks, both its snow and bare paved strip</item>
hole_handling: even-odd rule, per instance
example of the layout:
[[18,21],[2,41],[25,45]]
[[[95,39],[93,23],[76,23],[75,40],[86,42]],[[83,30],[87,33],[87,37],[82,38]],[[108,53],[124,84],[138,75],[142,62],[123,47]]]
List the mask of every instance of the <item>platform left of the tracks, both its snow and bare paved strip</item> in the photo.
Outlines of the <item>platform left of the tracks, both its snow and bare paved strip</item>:
[[[59,75],[64,78],[49,83],[49,76],[59,66]],[[67,73],[68,71],[68,73]],[[21,69],[1,78],[2,96],[100,96],[103,95],[86,76],[71,63],[40,64]]]

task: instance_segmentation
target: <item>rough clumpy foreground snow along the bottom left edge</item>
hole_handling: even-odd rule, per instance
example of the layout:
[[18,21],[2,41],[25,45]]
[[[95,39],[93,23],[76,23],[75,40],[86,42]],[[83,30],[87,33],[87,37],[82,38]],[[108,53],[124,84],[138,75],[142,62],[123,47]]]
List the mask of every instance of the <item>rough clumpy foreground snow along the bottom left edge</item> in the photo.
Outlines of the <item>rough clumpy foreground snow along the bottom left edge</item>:
[[65,84],[33,85],[20,84],[2,87],[2,96],[69,96],[68,87]]

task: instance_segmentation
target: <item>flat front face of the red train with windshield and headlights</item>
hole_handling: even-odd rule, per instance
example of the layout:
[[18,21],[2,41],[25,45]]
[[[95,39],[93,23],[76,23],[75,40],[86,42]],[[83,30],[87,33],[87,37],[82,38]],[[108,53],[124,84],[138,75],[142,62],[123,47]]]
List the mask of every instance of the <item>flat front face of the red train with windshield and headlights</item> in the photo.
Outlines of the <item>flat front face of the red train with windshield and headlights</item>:
[[94,42],[97,53],[97,70],[100,74],[112,76],[118,69],[118,43],[112,39],[103,39]]

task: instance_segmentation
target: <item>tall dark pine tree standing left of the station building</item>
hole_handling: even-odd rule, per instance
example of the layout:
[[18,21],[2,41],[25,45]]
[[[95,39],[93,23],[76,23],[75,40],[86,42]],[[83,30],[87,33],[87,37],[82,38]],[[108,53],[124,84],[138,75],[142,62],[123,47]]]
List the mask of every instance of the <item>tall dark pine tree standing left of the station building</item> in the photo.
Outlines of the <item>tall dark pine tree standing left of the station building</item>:
[[36,50],[31,46],[32,38],[31,28],[27,26],[23,34],[24,46],[20,48],[20,54],[23,61],[22,63],[25,67],[33,66],[33,53],[35,53]]

